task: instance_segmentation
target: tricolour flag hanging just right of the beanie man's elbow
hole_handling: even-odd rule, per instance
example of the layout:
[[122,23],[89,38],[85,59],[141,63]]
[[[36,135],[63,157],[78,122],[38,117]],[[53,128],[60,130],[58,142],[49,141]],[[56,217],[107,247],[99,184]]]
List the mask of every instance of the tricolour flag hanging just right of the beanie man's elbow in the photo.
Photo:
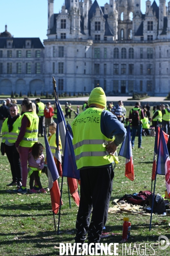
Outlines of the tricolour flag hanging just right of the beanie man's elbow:
[[132,144],[130,135],[130,124],[127,127],[127,134],[125,140],[122,142],[122,146],[119,151],[119,156],[125,157],[125,176],[134,180],[134,169],[133,169],[133,156],[132,156]]

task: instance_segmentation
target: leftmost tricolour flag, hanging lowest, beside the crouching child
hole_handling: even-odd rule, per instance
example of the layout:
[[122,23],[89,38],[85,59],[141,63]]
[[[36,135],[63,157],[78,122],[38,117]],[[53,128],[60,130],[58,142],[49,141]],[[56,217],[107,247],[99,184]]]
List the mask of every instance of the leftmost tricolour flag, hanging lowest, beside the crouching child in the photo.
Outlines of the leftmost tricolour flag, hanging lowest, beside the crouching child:
[[52,211],[55,214],[57,214],[59,210],[59,201],[60,201],[60,190],[57,182],[57,179],[59,178],[59,173],[54,161],[53,154],[50,149],[50,145],[46,137],[45,128],[44,128],[44,140],[45,140],[47,169],[48,169],[48,187],[51,195]]

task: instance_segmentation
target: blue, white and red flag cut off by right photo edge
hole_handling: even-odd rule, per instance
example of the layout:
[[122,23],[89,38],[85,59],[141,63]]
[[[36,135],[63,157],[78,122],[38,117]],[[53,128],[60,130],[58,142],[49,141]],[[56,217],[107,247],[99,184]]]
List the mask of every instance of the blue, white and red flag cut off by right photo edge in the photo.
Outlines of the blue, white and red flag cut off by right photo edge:
[[159,133],[158,159],[156,166],[156,174],[165,175],[167,193],[170,196],[170,157],[167,150],[167,143],[162,129]]

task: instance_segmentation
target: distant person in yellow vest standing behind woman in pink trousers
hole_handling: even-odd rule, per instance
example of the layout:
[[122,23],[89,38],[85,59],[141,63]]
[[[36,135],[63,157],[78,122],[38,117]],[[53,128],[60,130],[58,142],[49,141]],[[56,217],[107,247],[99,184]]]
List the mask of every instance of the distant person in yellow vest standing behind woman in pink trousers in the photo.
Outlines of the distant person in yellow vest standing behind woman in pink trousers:
[[38,106],[38,113],[37,113],[37,116],[39,117],[38,133],[41,134],[41,137],[44,137],[43,126],[45,123],[45,117],[44,117],[45,105],[44,103],[41,102],[39,98],[35,100],[35,104],[36,106]]

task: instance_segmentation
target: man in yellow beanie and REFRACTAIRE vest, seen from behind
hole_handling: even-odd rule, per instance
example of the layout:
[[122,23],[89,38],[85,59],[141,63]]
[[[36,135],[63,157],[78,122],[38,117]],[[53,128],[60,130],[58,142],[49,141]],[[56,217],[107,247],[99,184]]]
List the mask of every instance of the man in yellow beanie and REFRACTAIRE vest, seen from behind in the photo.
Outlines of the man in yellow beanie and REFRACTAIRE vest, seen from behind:
[[81,180],[75,241],[81,244],[85,242],[87,233],[89,243],[99,243],[111,198],[114,176],[112,163],[118,163],[116,149],[126,135],[124,125],[113,113],[105,110],[106,96],[101,87],[91,91],[88,106],[71,124]]

